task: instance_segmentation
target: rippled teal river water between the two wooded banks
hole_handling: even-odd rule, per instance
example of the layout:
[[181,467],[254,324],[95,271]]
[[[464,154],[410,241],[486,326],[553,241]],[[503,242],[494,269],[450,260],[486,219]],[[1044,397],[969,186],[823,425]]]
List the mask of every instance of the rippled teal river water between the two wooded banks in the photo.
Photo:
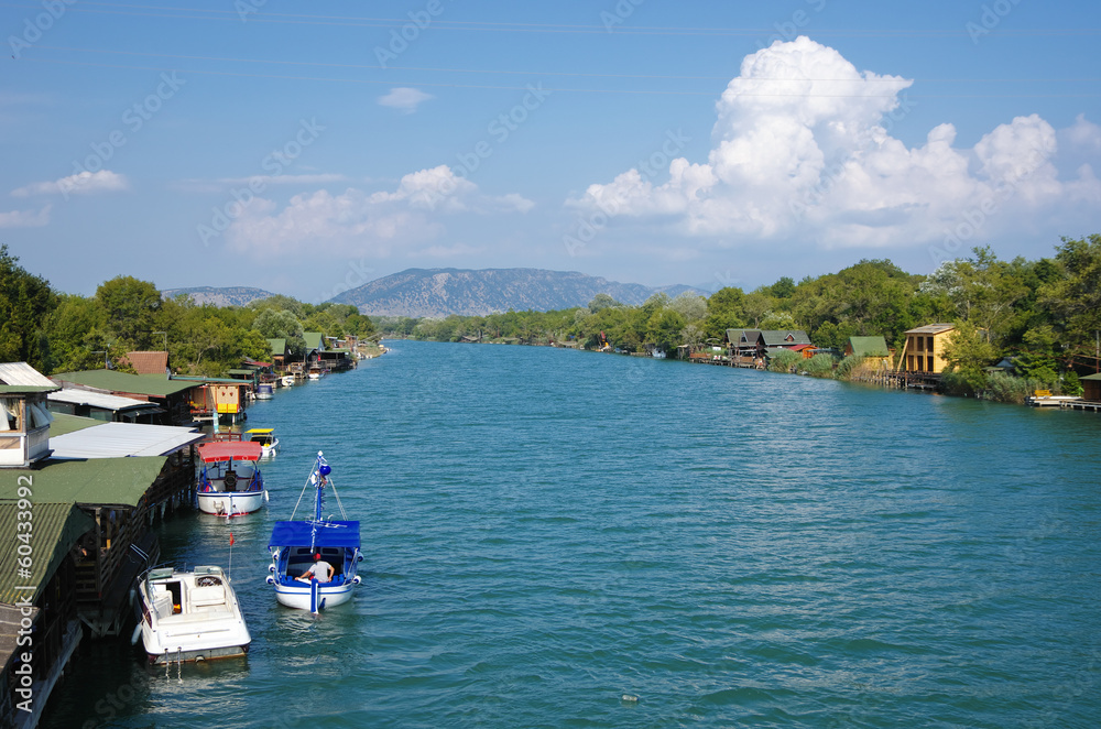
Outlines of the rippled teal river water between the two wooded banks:
[[[1101,417],[393,348],[250,409],[265,511],[161,527],[188,564],[233,532],[248,660],[94,645],[45,726],[1097,726]],[[315,619],[263,580],[318,449],[366,561]]]

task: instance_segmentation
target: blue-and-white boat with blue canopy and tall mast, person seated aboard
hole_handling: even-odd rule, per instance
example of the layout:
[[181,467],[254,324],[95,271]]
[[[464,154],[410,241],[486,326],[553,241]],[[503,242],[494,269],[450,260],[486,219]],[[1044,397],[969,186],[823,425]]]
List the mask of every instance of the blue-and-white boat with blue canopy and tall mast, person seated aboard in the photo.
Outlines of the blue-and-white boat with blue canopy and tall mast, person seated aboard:
[[[272,529],[272,537],[268,543],[268,551],[272,555],[272,564],[268,567],[271,573],[268,584],[274,586],[275,599],[288,608],[320,612],[321,608],[350,600],[352,590],[362,581],[356,574],[357,565],[363,559],[359,552],[359,522],[348,521],[336,486],[329,478],[331,474],[333,468],[318,450],[317,459],[298,497],[298,503],[302,503],[306,489],[314,489],[313,518],[295,521],[294,515],[298,509],[296,505],[290,521],[277,521]],[[342,521],[321,518],[326,487],[336,497]],[[317,563],[321,563],[320,569],[314,566]],[[329,572],[321,575],[329,579],[320,579],[318,572]]]

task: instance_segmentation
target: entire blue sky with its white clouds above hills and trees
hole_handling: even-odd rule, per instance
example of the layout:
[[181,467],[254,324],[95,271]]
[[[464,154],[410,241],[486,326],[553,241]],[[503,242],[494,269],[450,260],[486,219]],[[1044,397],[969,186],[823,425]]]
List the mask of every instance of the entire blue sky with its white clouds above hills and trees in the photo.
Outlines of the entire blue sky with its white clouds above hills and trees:
[[72,293],[750,290],[1101,232],[1097,2],[46,0],[0,29],[0,242]]

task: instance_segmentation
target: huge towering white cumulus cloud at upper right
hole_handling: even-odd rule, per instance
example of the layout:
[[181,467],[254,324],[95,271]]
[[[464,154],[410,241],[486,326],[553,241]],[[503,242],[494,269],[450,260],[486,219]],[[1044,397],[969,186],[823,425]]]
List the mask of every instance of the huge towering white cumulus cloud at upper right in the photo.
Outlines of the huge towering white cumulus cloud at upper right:
[[[588,217],[648,218],[679,233],[737,240],[813,240],[820,247],[887,247],[942,239],[981,213],[969,236],[1021,213],[1101,195],[1086,165],[1061,182],[1051,162],[1058,134],[1033,115],[953,146],[941,124],[908,148],[891,129],[908,113],[912,80],[860,72],[805,36],[751,54],[716,105],[706,162],[655,154],[567,200]],[[1079,119],[1069,139],[1101,139]],[[683,149],[683,145],[682,145]],[[667,150],[666,150],[667,151]],[[651,161],[655,157],[652,156]],[[1012,204],[1011,204],[1012,200]]]

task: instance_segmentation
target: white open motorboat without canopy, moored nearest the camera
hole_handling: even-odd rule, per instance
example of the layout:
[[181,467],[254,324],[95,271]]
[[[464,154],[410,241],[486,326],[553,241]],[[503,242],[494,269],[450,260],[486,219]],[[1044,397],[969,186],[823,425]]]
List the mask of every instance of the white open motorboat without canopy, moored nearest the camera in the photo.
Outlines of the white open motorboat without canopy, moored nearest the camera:
[[221,567],[154,567],[138,580],[138,625],[131,642],[150,664],[242,656],[252,636]]

